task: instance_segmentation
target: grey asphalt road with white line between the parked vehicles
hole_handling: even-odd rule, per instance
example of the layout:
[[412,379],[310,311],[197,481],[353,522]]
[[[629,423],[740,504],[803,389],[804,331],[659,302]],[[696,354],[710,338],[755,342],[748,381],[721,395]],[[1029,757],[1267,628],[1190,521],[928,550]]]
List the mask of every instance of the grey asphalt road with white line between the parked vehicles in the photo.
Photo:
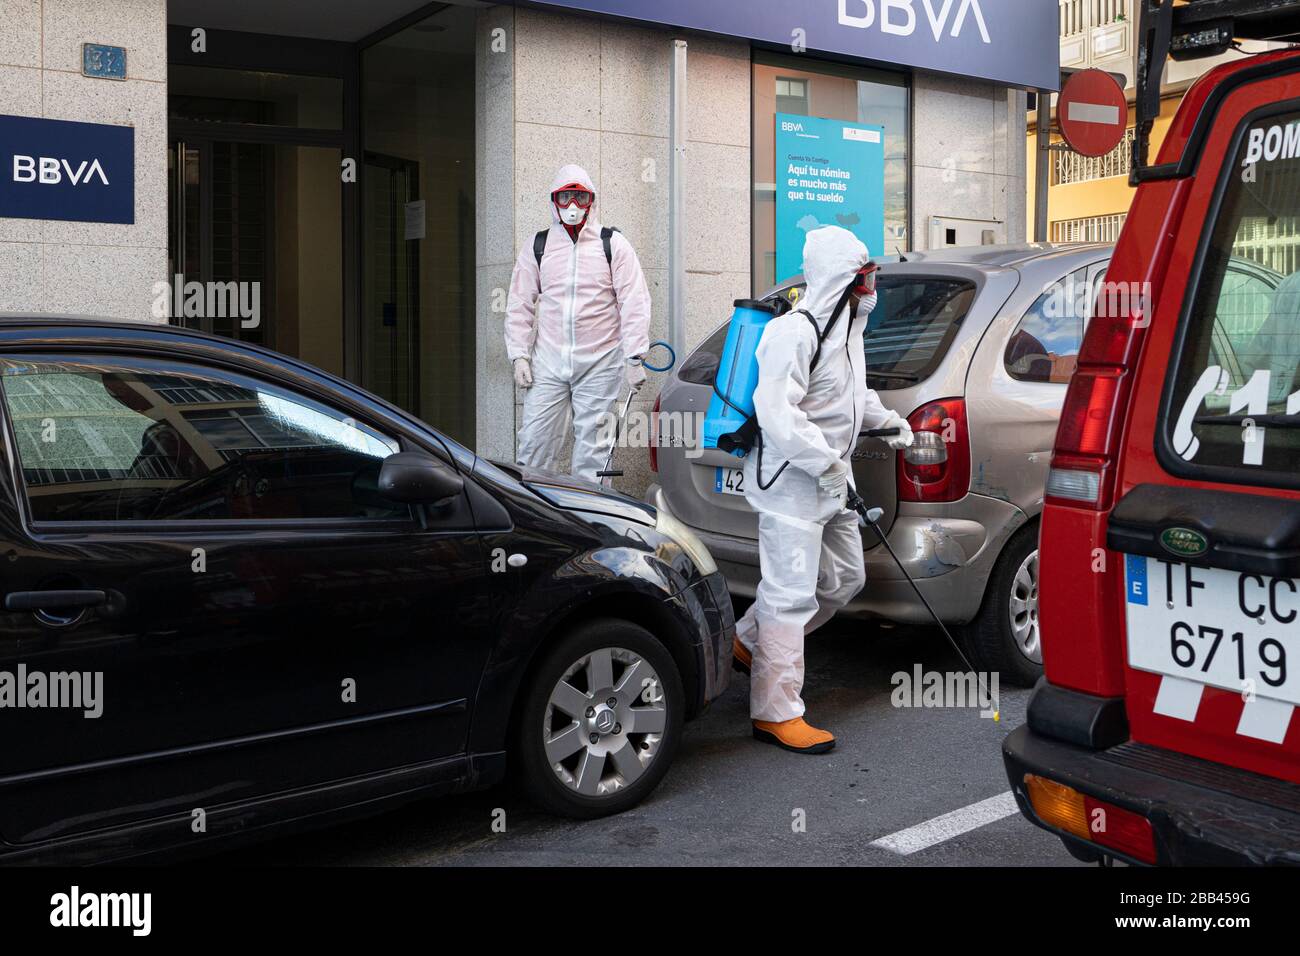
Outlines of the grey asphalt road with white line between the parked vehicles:
[[[835,622],[809,641],[805,685],[809,715],[837,736],[832,753],[805,757],[754,741],[749,680],[736,674],[727,693],[686,726],[655,793],[618,817],[556,819],[498,787],[425,800],[213,862],[1080,866],[1054,836],[1018,813],[1004,816],[1009,796],[1000,744],[1024,721],[1030,692],[1001,688],[998,723],[974,709],[894,708],[890,675],[911,672],[916,663],[961,667],[937,631]],[[498,809],[506,812],[504,832],[493,832]],[[945,817],[953,812],[959,813]],[[806,822],[802,832],[797,817]],[[978,826],[984,819],[992,822]],[[901,853],[872,845],[900,831],[909,832],[893,843],[923,848]]]

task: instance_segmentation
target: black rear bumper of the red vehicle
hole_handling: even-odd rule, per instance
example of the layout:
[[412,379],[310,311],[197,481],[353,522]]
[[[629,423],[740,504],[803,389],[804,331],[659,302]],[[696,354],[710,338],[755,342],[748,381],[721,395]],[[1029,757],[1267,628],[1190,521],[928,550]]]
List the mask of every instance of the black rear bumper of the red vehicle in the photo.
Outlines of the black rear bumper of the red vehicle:
[[[1045,683],[1039,684],[1035,697],[1045,691],[1057,701],[1062,695],[1082,698],[1074,701],[1080,705],[1075,714],[1086,711],[1089,701],[1104,702]],[[1131,740],[1104,749],[1066,743],[1044,732],[1050,721],[1036,721],[1034,704],[1028,723],[1002,743],[1002,761],[1020,813],[1067,845],[1143,865],[1044,823],[1030,803],[1026,774],[1145,817],[1154,831],[1160,865],[1300,865],[1300,787]],[[1053,708],[1053,718],[1061,714]]]

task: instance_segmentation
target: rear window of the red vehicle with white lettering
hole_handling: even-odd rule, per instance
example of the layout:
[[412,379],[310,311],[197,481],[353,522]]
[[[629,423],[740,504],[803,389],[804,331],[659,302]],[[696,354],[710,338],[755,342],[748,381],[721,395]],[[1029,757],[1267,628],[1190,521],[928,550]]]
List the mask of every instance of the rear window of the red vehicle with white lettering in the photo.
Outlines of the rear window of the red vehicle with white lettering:
[[1171,472],[1297,486],[1300,112],[1248,122],[1191,293],[1166,395]]

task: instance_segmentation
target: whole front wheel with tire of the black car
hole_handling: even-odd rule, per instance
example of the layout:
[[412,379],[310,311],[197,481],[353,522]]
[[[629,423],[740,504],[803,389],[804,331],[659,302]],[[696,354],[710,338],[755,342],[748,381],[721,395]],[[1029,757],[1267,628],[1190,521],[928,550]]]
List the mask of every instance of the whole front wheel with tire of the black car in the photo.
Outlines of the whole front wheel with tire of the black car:
[[580,624],[547,649],[524,692],[520,783],[563,817],[628,810],[668,773],[685,709],[677,665],[654,635],[627,620]]

